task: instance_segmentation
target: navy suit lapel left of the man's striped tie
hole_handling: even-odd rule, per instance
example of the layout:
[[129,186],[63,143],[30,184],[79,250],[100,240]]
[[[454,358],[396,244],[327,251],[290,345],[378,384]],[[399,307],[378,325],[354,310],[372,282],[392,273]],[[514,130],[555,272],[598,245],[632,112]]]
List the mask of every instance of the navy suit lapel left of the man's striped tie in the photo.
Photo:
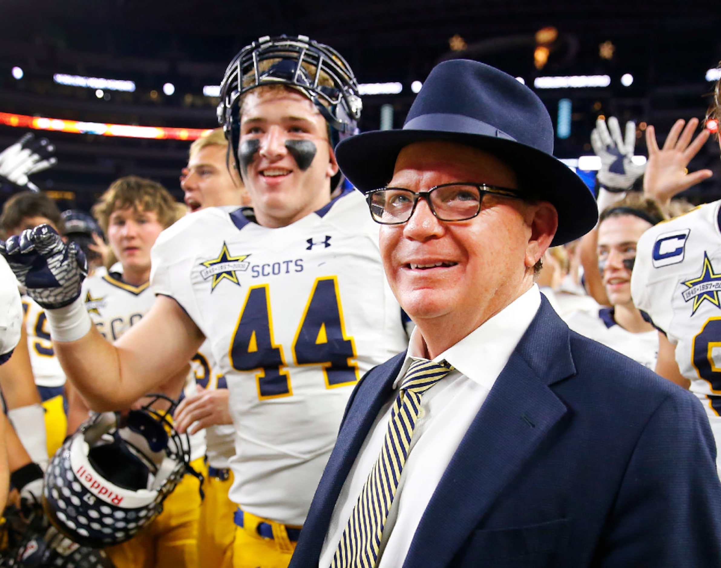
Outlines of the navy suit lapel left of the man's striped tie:
[[350,396],[335,448],[313,497],[311,514],[303,527],[303,533],[308,538],[299,543],[303,545],[301,554],[304,558],[316,559],[316,564],[340,489],[381,407],[391,399],[393,381],[404,358],[403,352],[371,369]]

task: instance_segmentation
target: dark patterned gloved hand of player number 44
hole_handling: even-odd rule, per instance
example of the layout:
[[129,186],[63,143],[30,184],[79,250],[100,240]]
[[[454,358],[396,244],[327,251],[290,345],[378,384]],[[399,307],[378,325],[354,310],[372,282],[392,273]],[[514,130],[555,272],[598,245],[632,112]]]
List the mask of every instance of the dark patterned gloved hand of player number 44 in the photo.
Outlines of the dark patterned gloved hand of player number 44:
[[80,296],[87,276],[85,255],[75,243],[63,243],[50,225],[29,228],[0,241],[0,254],[27,295],[43,308],[63,308]]

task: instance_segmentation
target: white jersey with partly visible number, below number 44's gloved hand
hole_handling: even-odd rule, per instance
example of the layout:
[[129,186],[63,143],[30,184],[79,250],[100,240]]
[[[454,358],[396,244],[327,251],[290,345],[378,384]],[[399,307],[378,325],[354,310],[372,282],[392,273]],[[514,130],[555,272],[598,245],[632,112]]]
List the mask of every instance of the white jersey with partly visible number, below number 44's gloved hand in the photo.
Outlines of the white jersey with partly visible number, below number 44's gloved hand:
[[22,296],[22,309],[25,310],[25,330],[27,347],[30,350],[30,366],[37,386],[58,387],[65,384],[65,371],[53,350],[50,340],[50,327],[45,310],[30,296]]

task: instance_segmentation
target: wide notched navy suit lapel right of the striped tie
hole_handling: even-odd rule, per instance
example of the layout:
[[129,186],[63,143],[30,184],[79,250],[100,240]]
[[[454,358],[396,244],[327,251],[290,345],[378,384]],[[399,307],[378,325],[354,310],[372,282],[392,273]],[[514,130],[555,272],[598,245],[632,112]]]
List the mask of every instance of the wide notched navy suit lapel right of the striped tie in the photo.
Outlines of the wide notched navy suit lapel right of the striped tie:
[[569,330],[543,298],[451,458],[405,565],[441,567],[451,561],[503,487],[565,414],[565,405],[549,385],[573,373]]

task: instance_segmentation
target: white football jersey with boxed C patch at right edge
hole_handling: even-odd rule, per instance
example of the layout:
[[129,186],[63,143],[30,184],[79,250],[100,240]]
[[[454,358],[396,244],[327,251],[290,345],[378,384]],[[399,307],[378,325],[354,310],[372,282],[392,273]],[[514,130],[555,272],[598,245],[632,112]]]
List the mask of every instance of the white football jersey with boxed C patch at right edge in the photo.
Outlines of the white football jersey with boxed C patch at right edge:
[[631,277],[634,303],[676,345],[678,369],[712,422],[721,422],[720,204],[648,229]]

